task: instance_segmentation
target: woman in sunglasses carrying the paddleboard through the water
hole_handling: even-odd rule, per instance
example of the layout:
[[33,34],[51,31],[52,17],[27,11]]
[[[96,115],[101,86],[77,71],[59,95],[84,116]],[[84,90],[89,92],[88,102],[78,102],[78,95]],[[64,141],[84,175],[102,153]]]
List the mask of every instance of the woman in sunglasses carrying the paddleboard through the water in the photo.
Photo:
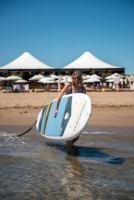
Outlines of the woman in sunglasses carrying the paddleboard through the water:
[[[67,83],[65,87],[61,90],[60,94],[57,97],[56,105],[55,105],[55,112],[54,116],[56,117],[58,114],[58,105],[60,103],[60,99],[67,94],[74,94],[74,93],[85,93],[86,89],[83,85],[82,74],[80,71],[74,71],[72,74],[72,83]],[[74,138],[73,140],[66,141],[66,145],[68,147],[72,146],[74,142],[78,140],[79,137]]]

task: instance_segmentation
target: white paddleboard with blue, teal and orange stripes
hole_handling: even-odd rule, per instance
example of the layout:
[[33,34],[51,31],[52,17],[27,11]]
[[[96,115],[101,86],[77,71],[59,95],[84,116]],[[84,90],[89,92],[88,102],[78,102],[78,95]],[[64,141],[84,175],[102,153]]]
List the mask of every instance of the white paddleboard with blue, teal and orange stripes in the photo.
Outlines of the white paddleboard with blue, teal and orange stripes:
[[79,136],[91,115],[91,100],[88,95],[76,93],[65,95],[54,117],[56,99],[39,113],[36,123],[38,132],[53,141],[68,141]]

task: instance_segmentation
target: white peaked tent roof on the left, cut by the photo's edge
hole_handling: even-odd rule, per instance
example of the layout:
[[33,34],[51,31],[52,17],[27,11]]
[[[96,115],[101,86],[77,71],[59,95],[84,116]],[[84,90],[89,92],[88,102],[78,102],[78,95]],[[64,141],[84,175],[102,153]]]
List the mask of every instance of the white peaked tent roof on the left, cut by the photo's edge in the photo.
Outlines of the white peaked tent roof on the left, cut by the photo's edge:
[[29,52],[24,52],[21,56],[13,60],[12,62],[8,63],[7,65],[0,67],[1,69],[5,70],[30,70],[30,69],[54,69],[46,65],[45,63],[41,62],[34,56],[32,56]]

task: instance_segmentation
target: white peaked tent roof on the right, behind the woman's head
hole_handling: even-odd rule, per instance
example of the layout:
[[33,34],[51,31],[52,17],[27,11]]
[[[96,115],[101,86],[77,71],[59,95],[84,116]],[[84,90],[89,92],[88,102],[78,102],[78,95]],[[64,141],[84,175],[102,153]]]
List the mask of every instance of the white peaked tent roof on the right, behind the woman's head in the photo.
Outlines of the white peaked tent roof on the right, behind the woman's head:
[[72,63],[66,65],[62,69],[111,69],[120,68],[117,66],[110,65],[96,58],[90,52],[83,53],[79,58],[74,60]]

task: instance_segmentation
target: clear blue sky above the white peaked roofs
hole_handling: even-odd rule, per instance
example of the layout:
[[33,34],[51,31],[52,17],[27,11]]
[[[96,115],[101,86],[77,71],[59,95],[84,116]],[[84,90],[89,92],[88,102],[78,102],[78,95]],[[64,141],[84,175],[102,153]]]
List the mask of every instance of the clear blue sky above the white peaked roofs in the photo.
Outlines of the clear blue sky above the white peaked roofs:
[[56,68],[89,51],[134,75],[134,0],[0,0],[0,67],[25,51]]

